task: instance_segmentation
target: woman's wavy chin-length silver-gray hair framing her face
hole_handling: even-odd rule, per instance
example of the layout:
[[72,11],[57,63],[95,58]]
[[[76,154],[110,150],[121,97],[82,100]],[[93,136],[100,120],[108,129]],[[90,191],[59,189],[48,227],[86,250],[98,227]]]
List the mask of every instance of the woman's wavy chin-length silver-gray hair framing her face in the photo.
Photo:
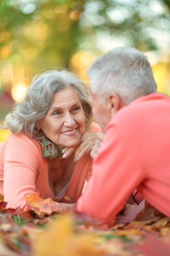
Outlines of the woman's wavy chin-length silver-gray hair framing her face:
[[24,99],[20,103],[15,103],[6,116],[3,128],[11,130],[14,134],[24,132],[36,139],[45,137],[42,130],[35,128],[35,124],[48,112],[53,94],[69,86],[79,95],[85,115],[85,129],[88,130],[93,121],[88,88],[67,70],[49,70],[35,75]]

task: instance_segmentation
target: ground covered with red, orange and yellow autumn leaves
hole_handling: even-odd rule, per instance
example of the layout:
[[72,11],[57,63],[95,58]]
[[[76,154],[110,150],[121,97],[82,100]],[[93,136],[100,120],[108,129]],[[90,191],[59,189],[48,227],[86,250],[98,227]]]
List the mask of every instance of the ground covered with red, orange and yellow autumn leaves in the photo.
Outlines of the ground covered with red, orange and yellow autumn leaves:
[[0,202],[0,256],[170,256],[170,218],[144,202],[108,227],[74,208],[58,213],[38,193],[26,201],[17,210]]

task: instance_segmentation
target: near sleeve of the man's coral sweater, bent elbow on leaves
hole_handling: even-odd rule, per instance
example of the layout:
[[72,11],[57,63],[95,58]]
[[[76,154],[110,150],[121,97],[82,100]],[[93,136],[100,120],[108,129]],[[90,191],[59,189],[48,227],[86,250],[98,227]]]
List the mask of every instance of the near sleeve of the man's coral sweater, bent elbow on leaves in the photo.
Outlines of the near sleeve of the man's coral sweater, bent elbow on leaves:
[[114,125],[108,127],[93,163],[91,179],[77,202],[77,211],[110,221],[124,207],[144,178],[140,158],[129,141]]

